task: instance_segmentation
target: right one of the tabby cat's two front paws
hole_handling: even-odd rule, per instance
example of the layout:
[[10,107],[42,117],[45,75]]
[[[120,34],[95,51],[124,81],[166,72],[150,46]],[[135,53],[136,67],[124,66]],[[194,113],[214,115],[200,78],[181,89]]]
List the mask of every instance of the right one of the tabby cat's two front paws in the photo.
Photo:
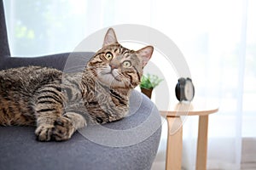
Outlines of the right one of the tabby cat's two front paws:
[[70,119],[62,116],[54,122],[51,139],[54,139],[56,141],[70,139],[75,130],[76,129]]

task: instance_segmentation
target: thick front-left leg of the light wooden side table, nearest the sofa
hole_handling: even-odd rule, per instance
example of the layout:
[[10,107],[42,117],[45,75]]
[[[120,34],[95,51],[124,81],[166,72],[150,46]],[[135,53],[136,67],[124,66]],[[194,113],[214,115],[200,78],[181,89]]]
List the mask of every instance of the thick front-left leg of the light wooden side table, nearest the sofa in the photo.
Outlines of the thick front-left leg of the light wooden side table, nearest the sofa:
[[180,116],[167,116],[168,137],[166,149],[166,170],[182,167],[183,125]]

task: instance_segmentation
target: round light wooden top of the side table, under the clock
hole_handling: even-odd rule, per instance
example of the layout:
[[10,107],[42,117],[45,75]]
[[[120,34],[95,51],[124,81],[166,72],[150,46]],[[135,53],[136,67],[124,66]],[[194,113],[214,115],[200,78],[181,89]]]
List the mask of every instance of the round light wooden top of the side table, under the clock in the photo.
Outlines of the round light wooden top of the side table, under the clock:
[[178,102],[169,111],[160,111],[161,116],[207,116],[218,111],[218,105],[207,100]]

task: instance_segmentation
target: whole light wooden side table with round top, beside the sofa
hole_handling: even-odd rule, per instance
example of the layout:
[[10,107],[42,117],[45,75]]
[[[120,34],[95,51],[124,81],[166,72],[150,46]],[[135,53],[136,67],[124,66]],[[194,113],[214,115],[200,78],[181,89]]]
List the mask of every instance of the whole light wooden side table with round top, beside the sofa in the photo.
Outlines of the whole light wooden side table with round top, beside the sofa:
[[168,123],[166,170],[177,170],[182,167],[183,122],[180,116],[199,116],[196,169],[207,169],[208,116],[217,112],[218,107],[192,101],[180,102],[171,108],[171,111],[160,111],[162,116],[166,116]]

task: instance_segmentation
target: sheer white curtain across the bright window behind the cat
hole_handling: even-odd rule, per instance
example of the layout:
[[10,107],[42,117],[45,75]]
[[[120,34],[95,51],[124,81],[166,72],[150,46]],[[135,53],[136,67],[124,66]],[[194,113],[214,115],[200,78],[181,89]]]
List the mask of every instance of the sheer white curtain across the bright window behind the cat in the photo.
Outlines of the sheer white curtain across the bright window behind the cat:
[[[209,120],[207,169],[256,168],[256,1],[4,0],[4,6],[14,56],[73,51],[92,32],[119,24],[163,32],[186,58],[196,97],[219,105]],[[176,81],[168,82],[171,90]],[[184,169],[195,169],[196,123],[196,117],[184,123]],[[166,123],[153,169],[165,167],[165,150]]]

